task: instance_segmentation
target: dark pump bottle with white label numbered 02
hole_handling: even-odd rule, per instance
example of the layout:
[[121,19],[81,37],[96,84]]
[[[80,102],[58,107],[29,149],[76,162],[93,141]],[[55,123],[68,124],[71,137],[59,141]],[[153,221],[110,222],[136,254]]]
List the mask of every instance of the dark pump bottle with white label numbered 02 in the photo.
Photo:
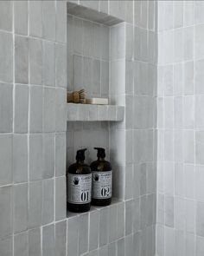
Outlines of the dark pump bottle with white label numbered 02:
[[112,202],[112,166],[105,161],[105,148],[98,150],[98,160],[91,164],[92,170],[92,205],[108,206]]

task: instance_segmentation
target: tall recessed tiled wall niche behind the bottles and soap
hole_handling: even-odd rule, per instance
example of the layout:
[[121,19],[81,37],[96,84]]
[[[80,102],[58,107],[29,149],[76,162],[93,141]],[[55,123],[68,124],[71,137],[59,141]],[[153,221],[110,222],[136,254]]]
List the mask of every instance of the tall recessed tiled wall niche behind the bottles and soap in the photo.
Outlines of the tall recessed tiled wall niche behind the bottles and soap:
[[[110,26],[112,23],[105,21],[113,21],[111,16],[101,19],[101,23],[90,20],[92,15],[87,19],[87,8],[67,10],[67,89],[85,89],[87,97],[108,97],[110,104],[124,106],[124,23],[115,19]],[[86,19],[83,10],[86,10]],[[80,109],[80,116],[83,116],[86,108],[80,106]],[[113,197],[124,199],[124,122],[116,121],[117,118],[115,121],[108,121],[108,118],[102,118],[105,121],[77,120],[67,118],[67,167],[75,161],[78,149],[87,148],[86,163],[90,164],[97,158],[93,148],[105,148],[106,159],[113,167]]]

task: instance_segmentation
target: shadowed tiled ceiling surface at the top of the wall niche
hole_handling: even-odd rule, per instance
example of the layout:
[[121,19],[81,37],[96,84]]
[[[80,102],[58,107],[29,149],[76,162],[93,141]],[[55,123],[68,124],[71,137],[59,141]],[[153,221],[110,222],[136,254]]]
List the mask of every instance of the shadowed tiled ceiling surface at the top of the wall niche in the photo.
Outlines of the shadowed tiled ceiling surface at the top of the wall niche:
[[77,3],[69,2],[67,0],[67,13],[73,16],[90,20],[95,23],[103,23],[107,26],[112,26],[124,22],[115,16],[110,16],[98,10],[93,10]]

